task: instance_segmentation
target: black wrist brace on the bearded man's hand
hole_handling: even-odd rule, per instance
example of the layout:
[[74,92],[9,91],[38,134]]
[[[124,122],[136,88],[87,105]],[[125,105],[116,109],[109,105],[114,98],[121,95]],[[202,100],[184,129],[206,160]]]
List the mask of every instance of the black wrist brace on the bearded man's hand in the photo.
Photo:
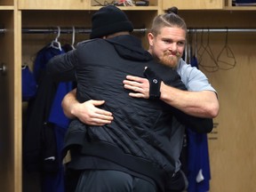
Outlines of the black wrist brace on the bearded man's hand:
[[146,68],[144,70],[144,76],[148,79],[149,82],[149,99],[159,99],[161,95],[160,85],[162,80],[156,76],[155,72],[150,68]]

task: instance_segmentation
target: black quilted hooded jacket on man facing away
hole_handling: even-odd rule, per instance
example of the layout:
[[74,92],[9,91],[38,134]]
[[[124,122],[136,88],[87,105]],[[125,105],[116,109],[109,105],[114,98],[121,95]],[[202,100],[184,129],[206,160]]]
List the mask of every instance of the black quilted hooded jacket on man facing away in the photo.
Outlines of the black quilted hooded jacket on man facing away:
[[[81,146],[82,154],[121,164],[164,188],[177,161],[170,152],[170,140],[175,140],[172,129],[177,129],[172,127],[173,113],[195,129],[201,128],[201,122],[208,132],[212,130],[212,119],[186,116],[161,100],[130,97],[122,82],[127,75],[143,76],[145,67],[155,71],[166,84],[185,89],[176,71],[156,63],[134,36],[85,41],[77,45],[76,51],[57,56],[48,64],[49,72],[58,80],[74,80],[70,78],[76,76],[77,100],[105,100],[102,108],[114,115],[114,121],[104,126],[75,120],[68,130],[65,151]],[[178,128],[184,129],[184,124]]]

